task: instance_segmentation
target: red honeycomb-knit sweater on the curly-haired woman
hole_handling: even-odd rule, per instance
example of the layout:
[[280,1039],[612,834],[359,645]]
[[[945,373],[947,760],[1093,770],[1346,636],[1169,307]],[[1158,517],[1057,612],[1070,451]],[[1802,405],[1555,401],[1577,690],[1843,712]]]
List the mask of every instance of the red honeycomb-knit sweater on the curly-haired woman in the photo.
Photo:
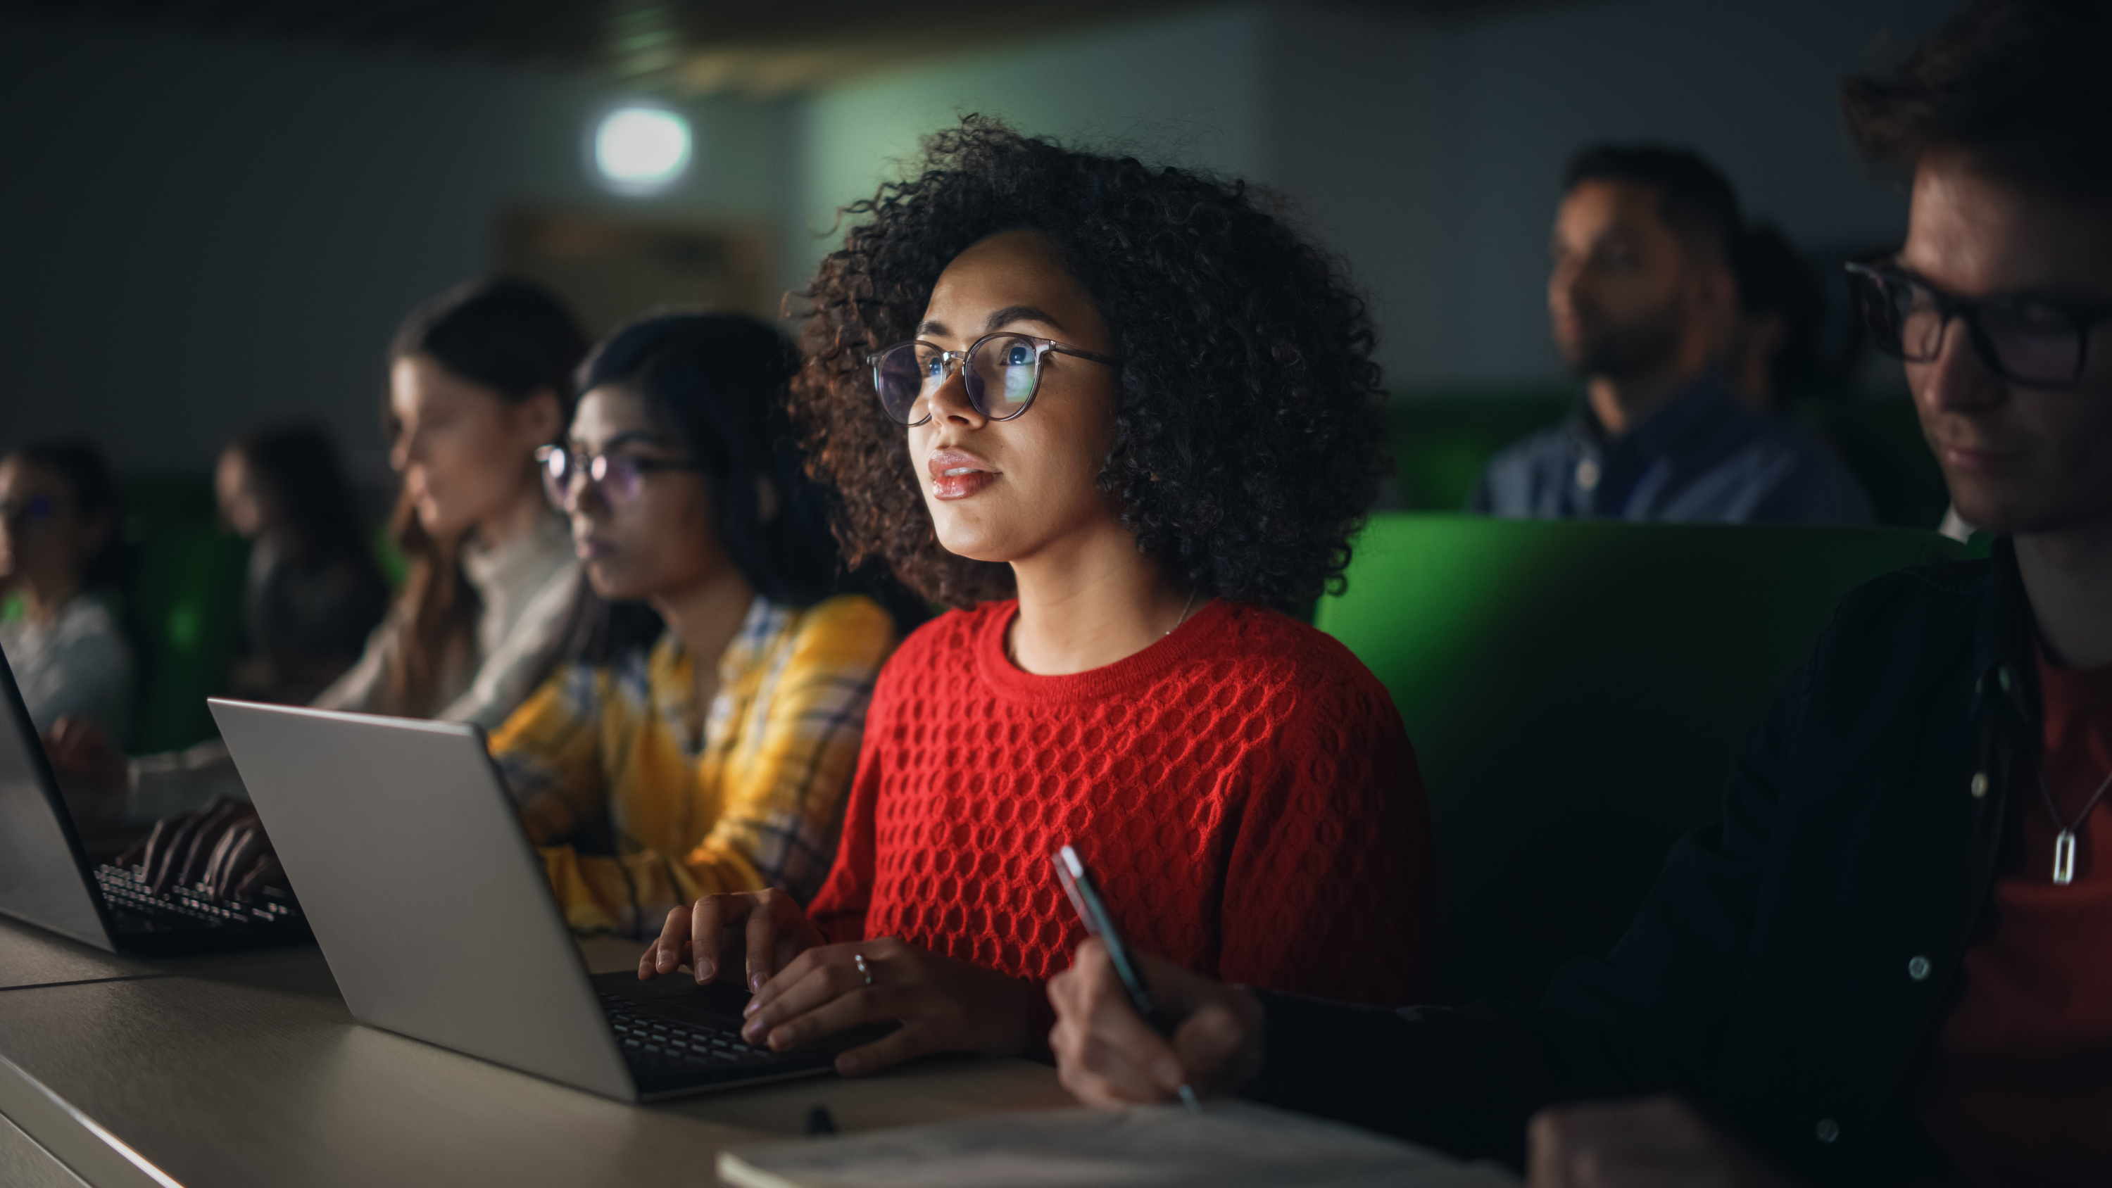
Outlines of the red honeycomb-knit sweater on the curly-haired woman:
[[1064,677],[1003,652],[1018,603],[950,612],[881,671],[843,848],[809,914],[1048,979],[1083,926],[1050,855],[1130,943],[1233,983],[1400,1004],[1430,947],[1430,817],[1385,686],[1282,614],[1212,601]]

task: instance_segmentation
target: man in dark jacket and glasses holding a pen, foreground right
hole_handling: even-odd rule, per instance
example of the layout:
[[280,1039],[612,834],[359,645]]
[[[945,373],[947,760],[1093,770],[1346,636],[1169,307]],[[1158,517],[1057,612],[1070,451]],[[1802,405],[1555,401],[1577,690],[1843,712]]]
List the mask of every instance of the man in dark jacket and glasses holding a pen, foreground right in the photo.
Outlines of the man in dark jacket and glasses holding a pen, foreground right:
[[1990,561],[1852,593],[1620,945],[1538,1009],[1050,985],[1088,1101],[1183,1080],[1533,1184],[2112,1175],[2112,6],[1979,0],[1846,89],[1911,167],[1852,274]]

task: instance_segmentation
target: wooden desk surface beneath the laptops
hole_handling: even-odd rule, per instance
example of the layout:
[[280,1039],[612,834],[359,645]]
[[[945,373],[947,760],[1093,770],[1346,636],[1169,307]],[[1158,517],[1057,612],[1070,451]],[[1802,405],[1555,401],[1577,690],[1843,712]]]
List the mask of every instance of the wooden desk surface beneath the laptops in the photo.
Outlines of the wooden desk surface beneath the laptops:
[[[593,969],[636,952],[587,945]],[[712,1184],[718,1148],[800,1135],[811,1106],[857,1131],[1071,1104],[1031,1061],[934,1059],[625,1106],[353,1023],[315,950],[0,994],[0,1114],[57,1158],[19,1182],[95,1188]]]

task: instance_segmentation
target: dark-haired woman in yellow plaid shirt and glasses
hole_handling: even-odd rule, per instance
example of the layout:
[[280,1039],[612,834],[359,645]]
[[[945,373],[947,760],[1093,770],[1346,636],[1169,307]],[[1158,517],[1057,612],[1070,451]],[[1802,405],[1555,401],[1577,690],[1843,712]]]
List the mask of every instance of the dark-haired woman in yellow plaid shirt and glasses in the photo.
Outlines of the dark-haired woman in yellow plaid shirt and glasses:
[[767,325],[661,314],[581,371],[551,500],[598,599],[577,658],[492,732],[577,931],[653,935],[699,895],[807,899],[836,850],[895,622],[838,589],[822,496],[779,411]]

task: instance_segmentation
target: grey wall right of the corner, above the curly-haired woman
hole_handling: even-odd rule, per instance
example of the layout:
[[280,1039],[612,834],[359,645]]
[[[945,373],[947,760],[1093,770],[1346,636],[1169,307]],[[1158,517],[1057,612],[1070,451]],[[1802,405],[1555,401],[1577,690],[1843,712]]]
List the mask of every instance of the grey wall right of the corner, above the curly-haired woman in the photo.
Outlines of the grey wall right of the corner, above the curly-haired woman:
[[1470,23],[1328,4],[1187,13],[826,89],[803,108],[800,205],[826,228],[919,133],[1001,114],[1290,196],[1371,295],[1394,386],[1550,384],[1546,241],[1578,146],[1694,146],[1793,238],[1884,245],[1905,207],[1848,148],[1840,80],[1956,6],[1590,0]]

